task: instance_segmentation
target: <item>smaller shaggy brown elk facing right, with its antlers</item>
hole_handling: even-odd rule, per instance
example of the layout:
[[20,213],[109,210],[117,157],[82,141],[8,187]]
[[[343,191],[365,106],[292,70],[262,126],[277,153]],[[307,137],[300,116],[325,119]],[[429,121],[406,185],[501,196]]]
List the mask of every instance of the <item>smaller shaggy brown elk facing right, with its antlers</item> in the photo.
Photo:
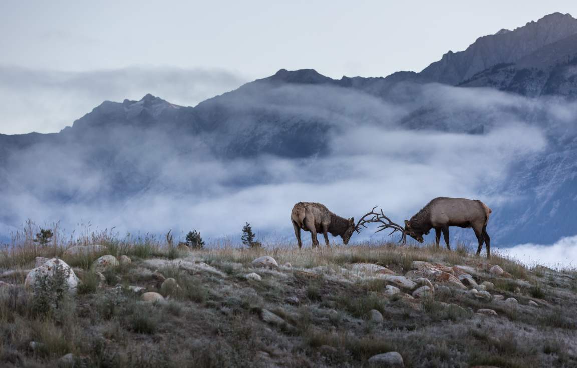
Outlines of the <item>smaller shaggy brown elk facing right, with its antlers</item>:
[[[343,217],[335,215],[320,203],[298,202],[293,206],[290,219],[293,223],[294,235],[297,237],[299,249],[302,247],[301,229],[304,231],[310,231],[310,238],[313,241],[313,247],[319,246],[317,233],[320,232],[323,233],[327,247],[329,246],[329,233],[331,233],[332,236],[340,236],[340,238],[343,239],[344,245],[347,245],[354,231],[360,233],[362,228],[366,228],[366,223],[380,219],[379,213],[374,212],[375,208],[376,207],[373,207],[371,212],[362,216],[358,223],[355,224],[354,217],[344,219]],[[372,217],[370,217],[369,220],[366,220],[369,216]],[[380,222],[384,223],[382,220]]]

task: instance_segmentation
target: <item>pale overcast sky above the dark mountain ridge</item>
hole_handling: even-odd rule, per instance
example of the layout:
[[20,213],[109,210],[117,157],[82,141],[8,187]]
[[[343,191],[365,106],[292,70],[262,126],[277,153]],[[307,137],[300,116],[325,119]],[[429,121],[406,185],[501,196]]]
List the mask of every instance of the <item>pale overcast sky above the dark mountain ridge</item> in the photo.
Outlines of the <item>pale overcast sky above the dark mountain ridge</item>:
[[[577,14],[577,2],[2,0],[0,133],[57,132],[104,99],[147,92],[194,105],[283,67],[331,77],[418,71],[556,11]],[[165,77],[144,82],[149,68]]]

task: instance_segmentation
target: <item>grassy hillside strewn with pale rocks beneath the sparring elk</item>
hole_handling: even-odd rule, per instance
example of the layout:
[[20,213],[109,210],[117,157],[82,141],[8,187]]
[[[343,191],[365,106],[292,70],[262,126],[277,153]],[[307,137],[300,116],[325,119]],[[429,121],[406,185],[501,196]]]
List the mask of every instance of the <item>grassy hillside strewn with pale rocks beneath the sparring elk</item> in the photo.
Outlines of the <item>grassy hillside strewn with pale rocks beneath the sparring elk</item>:
[[573,271],[463,248],[0,253],[2,367],[575,367]]

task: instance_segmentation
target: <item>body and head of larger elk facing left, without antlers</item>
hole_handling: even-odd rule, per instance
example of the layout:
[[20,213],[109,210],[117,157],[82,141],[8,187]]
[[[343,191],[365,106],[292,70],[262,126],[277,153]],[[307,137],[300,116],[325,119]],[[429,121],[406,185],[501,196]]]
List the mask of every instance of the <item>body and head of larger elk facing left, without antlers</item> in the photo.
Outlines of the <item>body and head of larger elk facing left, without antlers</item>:
[[429,234],[429,231],[434,228],[437,247],[439,247],[442,231],[447,249],[451,250],[449,245],[449,226],[473,228],[479,242],[477,256],[481,254],[483,243],[485,243],[487,258],[489,258],[491,256],[491,238],[487,234],[487,223],[491,212],[493,211],[479,200],[447,197],[434,198],[410,220],[404,221],[403,241],[406,241],[406,236],[409,235],[419,243],[422,243],[424,242],[423,235]]

